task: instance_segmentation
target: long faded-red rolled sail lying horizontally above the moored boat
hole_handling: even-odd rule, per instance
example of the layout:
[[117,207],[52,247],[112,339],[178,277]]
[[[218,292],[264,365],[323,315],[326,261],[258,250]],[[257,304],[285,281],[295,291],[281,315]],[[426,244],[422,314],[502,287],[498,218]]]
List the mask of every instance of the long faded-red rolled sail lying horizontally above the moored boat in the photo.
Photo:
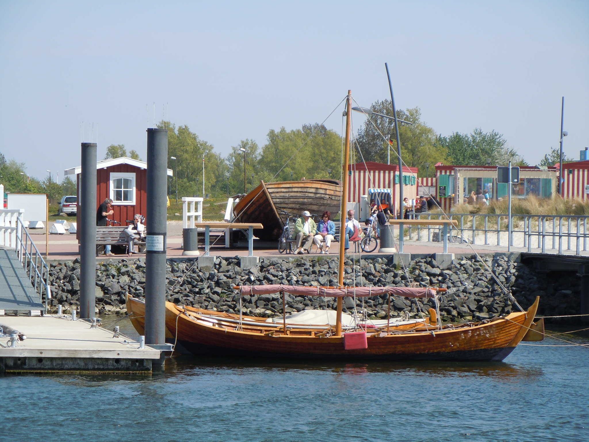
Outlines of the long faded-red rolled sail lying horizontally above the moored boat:
[[325,288],[325,287],[300,287],[299,285],[241,285],[242,295],[267,295],[270,293],[280,293],[282,291],[293,295],[301,296],[327,296],[340,298],[344,296],[378,296],[378,295],[395,295],[405,298],[434,298],[435,290],[425,287],[344,287],[344,288]]

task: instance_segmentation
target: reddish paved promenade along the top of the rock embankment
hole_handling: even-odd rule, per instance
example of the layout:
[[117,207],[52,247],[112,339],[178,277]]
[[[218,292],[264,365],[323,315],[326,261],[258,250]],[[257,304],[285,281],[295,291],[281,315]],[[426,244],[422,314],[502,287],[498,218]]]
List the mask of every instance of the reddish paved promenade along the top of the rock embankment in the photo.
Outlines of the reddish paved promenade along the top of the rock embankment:
[[[166,255],[168,258],[182,258],[182,223],[181,221],[168,221],[167,224],[167,250]],[[31,237],[37,245],[38,250],[45,255],[45,232],[43,231],[36,231],[30,230]],[[212,240],[211,240],[212,242]],[[259,257],[273,257],[273,256],[282,256],[282,257],[294,257],[295,255],[287,255],[287,254],[279,254],[276,248],[276,241],[268,242],[268,241],[257,241],[254,240],[254,255]],[[472,248],[471,248],[472,247]],[[466,245],[466,244],[449,244],[448,245],[448,252],[454,253],[457,255],[472,255],[474,254],[473,249],[479,254],[489,254],[495,252],[507,252],[507,247],[497,247],[497,246],[490,246],[490,245]],[[313,253],[310,255],[300,255],[300,256],[325,256],[319,255],[315,252],[316,247],[313,245]],[[351,251],[352,249],[350,249]],[[199,248],[201,255],[204,254],[204,247]],[[405,241],[405,250],[406,253],[411,254],[433,254],[433,253],[441,253],[442,252],[442,243],[441,242],[423,242],[423,241]],[[512,247],[512,252],[527,252],[527,248],[523,247]],[[339,253],[339,243],[333,242],[332,248],[330,249],[331,255],[337,255]],[[390,253],[386,254],[379,254],[377,253],[378,249],[376,249],[375,253],[371,253],[370,256],[389,256]],[[532,252],[540,252],[540,250],[532,249]],[[557,254],[557,250],[551,250],[547,248],[547,253],[550,254]],[[237,247],[232,247],[227,249],[224,247],[224,244],[220,244],[219,246],[214,245],[211,247],[210,251],[211,255],[223,256],[223,257],[234,257],[234,256],[247,256],[247,241],[243,241],[237,245]],[[563,254],[566,255],[574,255],[574,251],[563,251]],[[589,252],[581,252],[582,255],[588,256]],[[363,256],[368,254],[362,252]],[[144,257],[145,254],[135,254],[135,257]],[[75,258],[80,257],[80,253],[78,252],[78,241],[75,238],[75,234],[65,234],[65,235],[57,235],[57,234],[49,234],[49,261],[68,261],[74,260]],[[127,258],[127,255],[124,253],[115,254],[114,256],[104,256],[100,255],[98,260],[119,260]],[[190,258],[190,257],[187,257]]]

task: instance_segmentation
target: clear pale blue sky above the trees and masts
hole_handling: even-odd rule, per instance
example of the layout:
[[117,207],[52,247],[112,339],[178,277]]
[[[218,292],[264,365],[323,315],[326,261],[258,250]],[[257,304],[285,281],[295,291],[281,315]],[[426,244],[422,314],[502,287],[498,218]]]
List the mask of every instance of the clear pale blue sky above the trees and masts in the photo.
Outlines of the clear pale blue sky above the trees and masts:
[[[61,181],[81,141],[145,160],[145,129],[165,118],[225,156],[323,122],[348,89],[366,107],[390,98],[385,62],[396,107],[438,134],[495,130],[537,164],[558,147],[564,96],[564,152],[589,146],[584,0],[0,0],[0,152]],[[340,133],[341,111],[325,124]]]

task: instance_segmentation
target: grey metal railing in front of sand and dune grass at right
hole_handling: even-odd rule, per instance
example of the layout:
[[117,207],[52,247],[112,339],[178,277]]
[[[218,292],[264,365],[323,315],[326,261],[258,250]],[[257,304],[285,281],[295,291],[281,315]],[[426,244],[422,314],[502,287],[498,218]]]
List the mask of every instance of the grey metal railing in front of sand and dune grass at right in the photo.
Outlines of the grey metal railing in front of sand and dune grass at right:
[[[558,250],[574,251],[580,255],[587,252],[588,215],[511,215],[511,237],[508,238],[507,214],[448,214],[459,221],[457,228],[451,228],[451,242],[469,242],[471,244],[497,245],[527,248],[528,252],[547,247]],[[444,220],[446,215],[436,213],[416,213],[411,218],[416,220]],[[417,241],[442,241],[439,228],[408,226],[409,239]],[[425,238],[424,238],[425,235]],[[454,238],[456,240],[454,241]],[[550,243],[550,244],[549,244]]]

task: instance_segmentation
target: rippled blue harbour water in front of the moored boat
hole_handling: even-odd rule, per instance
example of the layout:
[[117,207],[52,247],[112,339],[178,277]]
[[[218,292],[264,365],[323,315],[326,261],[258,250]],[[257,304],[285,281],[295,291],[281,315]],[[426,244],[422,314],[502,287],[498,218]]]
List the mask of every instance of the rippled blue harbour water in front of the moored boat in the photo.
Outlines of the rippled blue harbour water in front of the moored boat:
[[581,347],[519,345],[504,363],[174,358],[151,376],[0,377],[0,441],[589,441],[588,379]]

